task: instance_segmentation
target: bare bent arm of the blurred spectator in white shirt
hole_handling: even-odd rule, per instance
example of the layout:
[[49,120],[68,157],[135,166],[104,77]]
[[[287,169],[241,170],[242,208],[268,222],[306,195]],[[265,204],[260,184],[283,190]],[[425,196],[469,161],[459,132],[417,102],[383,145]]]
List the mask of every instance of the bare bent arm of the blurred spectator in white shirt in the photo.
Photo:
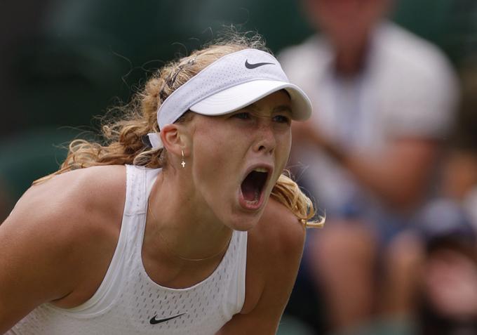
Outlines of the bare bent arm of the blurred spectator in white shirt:
[[408,209],[424,195],[429,171],[438,156],[438,143],[421,138],[396,138],[379,157],[347,152],[323,138],[309,125],[297,126],[297,144],[307,141],[341,164],[363,187],[387,204]]

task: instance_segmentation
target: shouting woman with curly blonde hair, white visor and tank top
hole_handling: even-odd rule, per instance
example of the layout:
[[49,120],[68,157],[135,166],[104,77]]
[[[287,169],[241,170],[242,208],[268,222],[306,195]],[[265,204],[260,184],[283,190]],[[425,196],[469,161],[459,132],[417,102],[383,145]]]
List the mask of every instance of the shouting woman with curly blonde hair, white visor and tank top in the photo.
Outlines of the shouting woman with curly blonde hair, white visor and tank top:
[[281,174],[311,107],[260,48],[166,65],[25,192],[0,226],[0,333],[274,334],[314,215]]

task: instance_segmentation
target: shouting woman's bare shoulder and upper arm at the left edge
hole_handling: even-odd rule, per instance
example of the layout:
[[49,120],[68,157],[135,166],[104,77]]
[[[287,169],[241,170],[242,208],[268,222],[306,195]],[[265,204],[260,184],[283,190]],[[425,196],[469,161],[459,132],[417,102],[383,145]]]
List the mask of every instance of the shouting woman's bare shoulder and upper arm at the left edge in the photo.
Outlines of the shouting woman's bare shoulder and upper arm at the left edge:
[[0,315],[8,308],[14,322],[41,303],[77,291],[65,305],[74,306],[94,292],[121,229],[124,169],[62,173],[25,192],[0,225]]

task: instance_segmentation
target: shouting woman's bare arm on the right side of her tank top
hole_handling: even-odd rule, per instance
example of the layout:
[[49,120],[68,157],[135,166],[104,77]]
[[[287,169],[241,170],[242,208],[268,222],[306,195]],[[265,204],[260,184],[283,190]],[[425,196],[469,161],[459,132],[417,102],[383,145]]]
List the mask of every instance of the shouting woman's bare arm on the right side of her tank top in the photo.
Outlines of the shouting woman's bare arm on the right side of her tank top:
[[234,315],[217,333],[276,334],[278,323],[290,298],[302,257],[303,226],[285,207],[273,200],[257,227],[249,233],[246,290],[260,290],[251,308]]

